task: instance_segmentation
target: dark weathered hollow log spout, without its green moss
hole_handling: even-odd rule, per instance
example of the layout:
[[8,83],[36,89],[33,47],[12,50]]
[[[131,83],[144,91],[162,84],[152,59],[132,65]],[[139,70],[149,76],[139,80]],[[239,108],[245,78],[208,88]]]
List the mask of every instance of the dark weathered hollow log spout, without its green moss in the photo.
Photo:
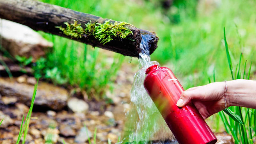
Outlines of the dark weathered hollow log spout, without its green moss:
[[[61,26],[65,28],[66,25],[64,22],[71,24],[77,21],[85,29],[85,24],[90,21],[91,23],[97,22],[103,24],[108,19],[34,0],[0,0],[0,18],[26,25],[34,30],[42,30],[47,33],[90,44],[94,47],[118,52],[125,56],[139,57],[140,42],[143,35],[150,37],[148,40],[150,54],[155,51],[158,42],[158,37],[154,32],[142,30],[129,24],[124,27],[130,29],[132,34],[129,34],[126,38],[115,37],[105,44],[100,43],[99,40],[90,35],[83,35],[81,38],[67,36],[60,28],[56,27]],[[114,20],[110,20],[112,24],[115,22]]]

